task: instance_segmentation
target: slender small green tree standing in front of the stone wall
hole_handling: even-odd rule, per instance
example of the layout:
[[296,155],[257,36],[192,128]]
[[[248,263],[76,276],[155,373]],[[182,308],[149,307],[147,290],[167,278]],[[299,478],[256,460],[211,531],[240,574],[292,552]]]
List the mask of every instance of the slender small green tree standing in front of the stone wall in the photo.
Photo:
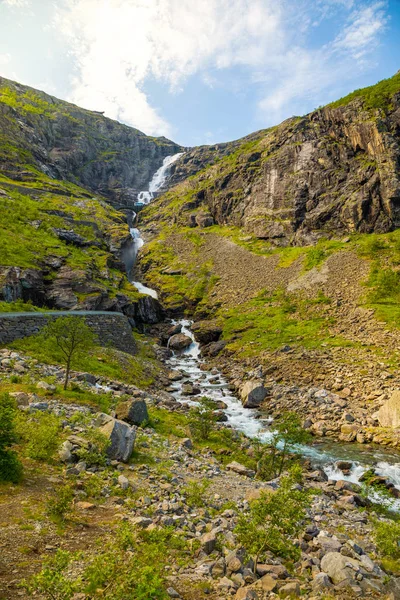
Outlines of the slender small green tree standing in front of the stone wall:
[[65,362],[64,390],[67,389],[71,367],[96,342],[96,336],[82,317],[60,317],[43,331],[44,338]]

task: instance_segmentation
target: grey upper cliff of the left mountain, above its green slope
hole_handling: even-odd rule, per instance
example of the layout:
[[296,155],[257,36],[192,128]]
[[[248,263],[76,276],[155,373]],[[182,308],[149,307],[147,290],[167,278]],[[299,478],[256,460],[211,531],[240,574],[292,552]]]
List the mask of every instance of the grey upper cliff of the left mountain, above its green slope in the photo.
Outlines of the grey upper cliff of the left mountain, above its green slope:
[[24,179],[26,164],[132,206],[163,159],[181,150],[101,113],[0,77],[0,169]]

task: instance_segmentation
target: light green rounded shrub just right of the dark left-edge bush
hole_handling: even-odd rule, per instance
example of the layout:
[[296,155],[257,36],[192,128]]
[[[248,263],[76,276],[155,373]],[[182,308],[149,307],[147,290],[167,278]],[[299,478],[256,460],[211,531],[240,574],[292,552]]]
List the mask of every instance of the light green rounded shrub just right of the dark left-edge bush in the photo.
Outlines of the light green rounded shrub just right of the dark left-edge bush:
[[36,411],[21,413],[17,420],[17,434],[29,458],[48,462],[60,443],[60,419],[50,413]]

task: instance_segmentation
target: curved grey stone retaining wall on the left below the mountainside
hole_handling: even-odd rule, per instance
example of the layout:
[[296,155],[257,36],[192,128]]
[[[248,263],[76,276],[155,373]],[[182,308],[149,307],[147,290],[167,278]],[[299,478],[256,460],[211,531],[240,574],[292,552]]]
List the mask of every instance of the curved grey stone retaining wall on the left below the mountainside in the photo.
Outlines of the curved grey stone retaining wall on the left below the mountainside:
[[0,313],[0,345],[35,335],[50,320],[71,315],[85,319],[101,346],[112,346],[136,354],[137,347],[128,318],[122,313],[102,311]]

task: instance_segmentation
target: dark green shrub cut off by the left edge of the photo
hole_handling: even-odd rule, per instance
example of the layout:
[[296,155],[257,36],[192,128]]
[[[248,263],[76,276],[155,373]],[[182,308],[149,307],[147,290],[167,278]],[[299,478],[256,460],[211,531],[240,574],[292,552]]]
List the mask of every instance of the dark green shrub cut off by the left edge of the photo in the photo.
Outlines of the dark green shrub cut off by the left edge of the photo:
[[22,465],[17,454],[11,450],[16,442],[15,419],[17,407],[9,394],[0,395],[0,481],[18,483],[22,477]]

